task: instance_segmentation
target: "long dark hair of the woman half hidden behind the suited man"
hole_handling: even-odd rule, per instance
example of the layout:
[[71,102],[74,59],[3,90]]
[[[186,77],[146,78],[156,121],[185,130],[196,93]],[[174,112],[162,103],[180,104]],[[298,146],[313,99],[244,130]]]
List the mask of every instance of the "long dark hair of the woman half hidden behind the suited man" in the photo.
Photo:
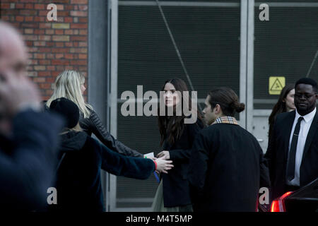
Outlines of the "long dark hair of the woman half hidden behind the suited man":
[[286,103],[283,102],[283,100],[287,97],[290,90],[293,90],[294,88],[295,88],[295,85],[288,84],[288,85],[285,85],[283,90],[281,90],[281,94],[279,95],[278,101],[276,105],[273,107],[273,111],[271,112],[271,115],[269,116],[269,137],[271,136],[271,131],[273,130],[273,123],[277,115],[283,112],[287,112]]

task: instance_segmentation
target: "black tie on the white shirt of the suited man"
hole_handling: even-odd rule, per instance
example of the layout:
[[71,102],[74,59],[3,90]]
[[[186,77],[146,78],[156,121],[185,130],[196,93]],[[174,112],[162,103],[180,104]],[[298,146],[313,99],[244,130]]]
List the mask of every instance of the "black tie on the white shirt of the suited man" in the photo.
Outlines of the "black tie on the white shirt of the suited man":
[[292,143],[290,145],[289,158],[288,158],[288,167],[287,167],[287,179],[291,181],[295,177],[295,160],[296,160],[296,150],[297,142],[300,131],[300,123],[302,122],[303,117],[299,117],[297,124],[295,126],[295,131],[292,138]]

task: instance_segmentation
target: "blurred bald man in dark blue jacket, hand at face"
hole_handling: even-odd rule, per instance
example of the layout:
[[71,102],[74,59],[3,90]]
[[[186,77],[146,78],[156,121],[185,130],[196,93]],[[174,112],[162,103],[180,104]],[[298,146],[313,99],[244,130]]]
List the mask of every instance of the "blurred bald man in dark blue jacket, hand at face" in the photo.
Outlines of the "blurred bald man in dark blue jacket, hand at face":
[[59,117],[41,111],[17,30],[0,21],[0,210],[39,210],[56,169]]

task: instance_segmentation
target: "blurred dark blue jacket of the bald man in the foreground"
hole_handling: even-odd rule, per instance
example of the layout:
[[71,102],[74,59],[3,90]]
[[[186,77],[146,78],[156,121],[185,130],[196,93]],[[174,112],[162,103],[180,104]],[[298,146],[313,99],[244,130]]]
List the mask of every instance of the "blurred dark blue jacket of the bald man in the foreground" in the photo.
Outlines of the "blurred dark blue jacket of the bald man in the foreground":
[[0,210],[46,206],[63,126],[54,114],[25,110],[13,119],[13,136],[0,136]]

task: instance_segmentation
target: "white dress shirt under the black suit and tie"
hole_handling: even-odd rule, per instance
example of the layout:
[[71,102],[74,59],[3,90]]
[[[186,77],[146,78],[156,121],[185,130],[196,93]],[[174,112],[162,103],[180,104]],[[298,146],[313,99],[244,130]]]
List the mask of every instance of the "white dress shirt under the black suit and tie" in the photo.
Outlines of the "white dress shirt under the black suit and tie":
[[290,133],[288,153],[290,151],[290,145],[291,145],[291,141],[293,139],[293,134],[295,131],[295,126],[297,124],[298,118],[303,117],[304,119],[300,122],[300,131],[299,131],[297,148],[296,148],[295,178],[292,181],[287,182],[288,185],[300,186],[300,165],[302,163],[302,154],[304,153],[307,135],[308,135],[308,132],[310,130],[310,126],[312,125],[312,121],[314,119],[314,114],[316,114],[316,110],[317,109],[315,107],[312,112],[310,112],[309,114],[306,114],[304,116],[301,116],[300,114],[298,114],[297,109],[295,110],[296,115],[295,115],[293,128],[292,128],[292,131]]

